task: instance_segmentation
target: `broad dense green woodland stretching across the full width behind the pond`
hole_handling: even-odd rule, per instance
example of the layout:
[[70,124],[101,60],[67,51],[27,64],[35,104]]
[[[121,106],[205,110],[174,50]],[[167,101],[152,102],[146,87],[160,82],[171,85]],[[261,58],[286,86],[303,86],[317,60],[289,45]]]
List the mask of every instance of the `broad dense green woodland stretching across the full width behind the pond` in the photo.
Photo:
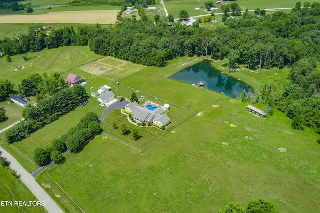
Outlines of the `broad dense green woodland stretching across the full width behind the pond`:
[[[89,45],[100,55],[113,56],[147,66],[164,66],[178,56],[228,58],[230,68],[246,64],[249,69],[292,65],[303,57],[319,57],[320,3],[310,8],[278,11],[258,18],[245,14],[243,19],[229,19],[226,27],[209,30],[204,27],[172,26],[161,20],[123,19],[115,27],[72,26],[52,30],[50,35],[39,26],[28,34],[0,41],[4,55],[24,54],[44,48]],[[244,15],[244,14],[243,14]]]

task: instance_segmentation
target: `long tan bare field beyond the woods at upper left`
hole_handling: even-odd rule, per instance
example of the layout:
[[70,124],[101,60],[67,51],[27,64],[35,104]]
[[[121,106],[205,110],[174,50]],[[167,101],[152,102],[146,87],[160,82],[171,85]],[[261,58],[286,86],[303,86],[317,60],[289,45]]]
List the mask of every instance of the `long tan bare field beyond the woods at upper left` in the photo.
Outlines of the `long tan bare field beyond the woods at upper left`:
[[120,10],[50,12],[42,15],[0,15],[0,23],[114,24]]

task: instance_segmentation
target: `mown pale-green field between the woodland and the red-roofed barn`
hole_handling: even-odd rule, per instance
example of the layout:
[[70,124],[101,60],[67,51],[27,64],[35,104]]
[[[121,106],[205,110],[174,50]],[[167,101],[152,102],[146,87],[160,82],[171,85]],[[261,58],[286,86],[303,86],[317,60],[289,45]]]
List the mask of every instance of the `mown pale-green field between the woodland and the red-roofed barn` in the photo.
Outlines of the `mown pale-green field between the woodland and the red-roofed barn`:
[[[22,59],[22,56],[11,56],[12,62],[6,62],[5,57],[0,58],[0,79],[9,79],[18,85],[30,73],[68,72],[102,57],[89,51],[87,46],[60,47],[30,52],[28,53],[30,59],[27,61]],[[14,71],[17,66],[26,68]]]

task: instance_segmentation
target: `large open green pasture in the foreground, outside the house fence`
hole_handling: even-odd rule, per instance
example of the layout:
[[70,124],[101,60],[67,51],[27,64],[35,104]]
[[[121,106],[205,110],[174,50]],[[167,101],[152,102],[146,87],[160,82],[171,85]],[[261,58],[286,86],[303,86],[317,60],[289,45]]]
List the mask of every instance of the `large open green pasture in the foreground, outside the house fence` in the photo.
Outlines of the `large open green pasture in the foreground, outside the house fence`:
[[215,98],[218,108],[200,103],[200,116],[142,154],[99,135],[50,175],[85,212],[215,212],[259,198],[283,213],[319,209],[316,134],[292,130],[277,110],[263,119]]

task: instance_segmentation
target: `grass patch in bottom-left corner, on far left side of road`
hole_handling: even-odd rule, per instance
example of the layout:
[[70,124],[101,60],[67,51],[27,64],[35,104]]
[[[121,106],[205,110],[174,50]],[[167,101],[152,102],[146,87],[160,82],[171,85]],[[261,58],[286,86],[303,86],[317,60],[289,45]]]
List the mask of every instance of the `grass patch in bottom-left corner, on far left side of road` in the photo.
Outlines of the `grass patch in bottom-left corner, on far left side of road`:
[[14,206],[14,201],[38,201],[18,178],[11,175],[10,168],[0,166],[0,200],[13,202],[13,206],[1,206],[1,213],[45,213],[42,206]]

